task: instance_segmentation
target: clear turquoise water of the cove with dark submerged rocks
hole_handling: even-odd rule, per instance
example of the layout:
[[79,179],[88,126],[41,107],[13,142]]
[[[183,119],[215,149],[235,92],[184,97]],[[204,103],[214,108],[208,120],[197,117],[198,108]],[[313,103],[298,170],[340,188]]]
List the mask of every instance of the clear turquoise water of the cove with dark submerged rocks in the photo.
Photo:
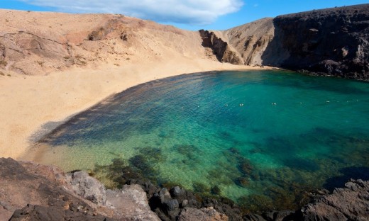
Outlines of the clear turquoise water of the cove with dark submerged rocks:
[[125,159],[250,210],[369,179],[369,84],[293,72],[211,72],[133,87],[62,125],[38,161],[65,170]]

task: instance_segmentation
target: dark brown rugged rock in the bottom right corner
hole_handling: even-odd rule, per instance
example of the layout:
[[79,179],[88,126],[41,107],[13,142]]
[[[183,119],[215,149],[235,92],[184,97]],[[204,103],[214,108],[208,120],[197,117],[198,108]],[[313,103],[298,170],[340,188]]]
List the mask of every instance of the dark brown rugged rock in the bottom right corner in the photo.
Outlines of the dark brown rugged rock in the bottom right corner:
[[344,188],[316,198],[301,210],[246,215],[245,220],[369,220],[369,181],[351,180]]

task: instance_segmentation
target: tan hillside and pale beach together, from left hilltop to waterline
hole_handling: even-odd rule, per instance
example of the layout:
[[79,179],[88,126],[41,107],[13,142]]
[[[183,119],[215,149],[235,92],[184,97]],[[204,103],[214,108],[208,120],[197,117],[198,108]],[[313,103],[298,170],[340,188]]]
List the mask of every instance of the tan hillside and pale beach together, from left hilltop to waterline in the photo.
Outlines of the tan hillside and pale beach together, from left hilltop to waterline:
[[[120,15],[0,10],[0,157],[18,158],[45,132],[146,81],[219,69],[197,32]],[[94,31],[99,40],[88,40]],[[123,40],[126,35],[126,40]],[[7,76],[8,74],[11,77]]]

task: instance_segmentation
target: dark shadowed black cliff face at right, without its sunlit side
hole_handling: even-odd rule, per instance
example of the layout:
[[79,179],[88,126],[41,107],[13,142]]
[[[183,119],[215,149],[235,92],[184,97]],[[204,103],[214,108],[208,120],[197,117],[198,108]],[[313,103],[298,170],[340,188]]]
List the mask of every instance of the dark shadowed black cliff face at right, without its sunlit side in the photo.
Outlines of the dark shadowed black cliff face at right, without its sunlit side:
[[369,4],[277,16],[263,64],[369,80]]

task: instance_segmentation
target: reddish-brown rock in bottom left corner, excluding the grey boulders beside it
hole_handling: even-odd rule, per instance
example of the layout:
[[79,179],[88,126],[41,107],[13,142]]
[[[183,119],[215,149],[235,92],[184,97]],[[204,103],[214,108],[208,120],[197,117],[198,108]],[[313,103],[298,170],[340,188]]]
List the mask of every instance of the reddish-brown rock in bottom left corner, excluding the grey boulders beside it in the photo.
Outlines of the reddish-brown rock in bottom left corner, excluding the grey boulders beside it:
[[0,159],[0,220],[105,220],[109,210],[68,191],[54,166]]

